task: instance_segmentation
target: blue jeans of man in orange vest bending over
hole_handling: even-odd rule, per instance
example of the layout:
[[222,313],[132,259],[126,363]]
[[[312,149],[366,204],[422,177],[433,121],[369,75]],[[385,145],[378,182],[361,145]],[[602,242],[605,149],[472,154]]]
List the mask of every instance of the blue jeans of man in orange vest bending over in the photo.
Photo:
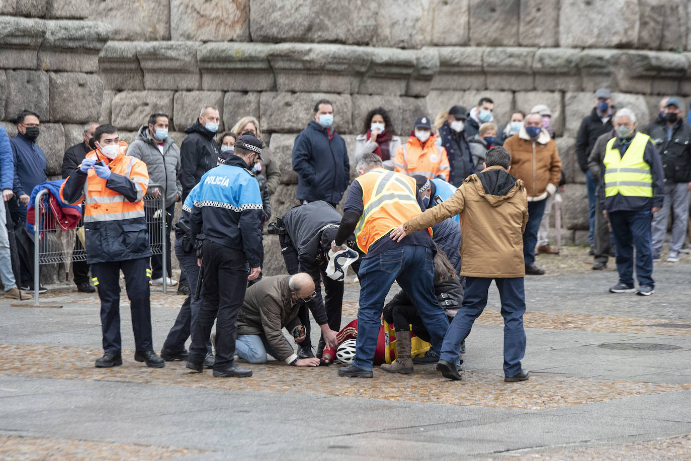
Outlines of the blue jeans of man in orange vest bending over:
[[372,370],[379,337],[379,319],[384,309],[384,299],[394,281],[406,290],[413,301],[430,333],[432,348],[439,353],[448,328],[448,319],[444,310],[439,309],[434,293],[432,250],[417,245],[404,245],[364,258],[357,276],[360,279],[360,308],[357,311],[357,339],[355,358],[352,361],[354,366]]

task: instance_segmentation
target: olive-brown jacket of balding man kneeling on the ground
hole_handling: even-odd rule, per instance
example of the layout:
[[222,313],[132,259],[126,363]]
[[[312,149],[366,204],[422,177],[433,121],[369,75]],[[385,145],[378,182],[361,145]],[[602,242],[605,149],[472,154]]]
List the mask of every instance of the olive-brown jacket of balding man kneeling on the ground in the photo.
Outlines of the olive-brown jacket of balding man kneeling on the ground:
[[264,277],[247,288],[243,309],[238,314],[238,335],[264,335],[276,352],[276,359],[286,364],[292,364],[298,356],[281,330],[292,333],[301,325],[300,305],[290,296],[289,279],[290,275]]

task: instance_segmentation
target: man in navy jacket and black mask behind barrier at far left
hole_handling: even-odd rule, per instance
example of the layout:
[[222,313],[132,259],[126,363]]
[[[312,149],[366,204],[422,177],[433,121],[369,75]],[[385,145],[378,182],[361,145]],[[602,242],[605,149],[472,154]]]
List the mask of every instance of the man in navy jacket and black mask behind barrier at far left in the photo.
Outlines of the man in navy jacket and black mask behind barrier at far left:
[[[19,200],[10,200],[12,221],[26,223],[26,207],[31,191],[46,181],[46,154],[36,144],[41,122],[39,115],[32,111],[21,111],[17,115],[17,135],[10,139],[12,156],[15,160],[15,180],[13,189]],[[33,274],[25,264],[21,264],[21,290],[33,292]],[[39,293],[46,289],[39,288]]]

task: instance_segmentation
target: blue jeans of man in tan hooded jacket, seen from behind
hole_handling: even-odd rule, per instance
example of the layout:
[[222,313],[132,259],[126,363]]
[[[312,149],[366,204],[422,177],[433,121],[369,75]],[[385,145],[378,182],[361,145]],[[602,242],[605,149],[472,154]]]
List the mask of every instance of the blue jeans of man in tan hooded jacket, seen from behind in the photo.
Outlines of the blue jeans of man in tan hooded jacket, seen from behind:
[[520,373],[520,361],[525,355],[525,330],[523,313],[525,312],[525,292],[523,277],[516,279],[486,279],[484,277],[466,277],[466,292],[461,308],[453,317],[451,326],[444,337],[440,358],[453,364],[461,352],[461,342],[466,339],[473,328],[473,322],[480,317],[487,305],[487,290],[492,280],[497,284],[499,297],[502,300],[502,317],[504,317],[504,375],[513,376]]

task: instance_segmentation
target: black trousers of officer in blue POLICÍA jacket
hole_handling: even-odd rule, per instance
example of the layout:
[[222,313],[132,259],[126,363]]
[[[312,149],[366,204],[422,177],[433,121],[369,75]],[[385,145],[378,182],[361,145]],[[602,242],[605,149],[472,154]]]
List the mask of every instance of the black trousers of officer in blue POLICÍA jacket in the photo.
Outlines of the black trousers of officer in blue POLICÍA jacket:
[[216,320],[216,363],[214,370],[233,366],[236,321],[243,307],[247,290],[247,260],[245,253],[209,240],[202,246],[202,297],[188,360],[201,364],[207,354],[207,342]]

